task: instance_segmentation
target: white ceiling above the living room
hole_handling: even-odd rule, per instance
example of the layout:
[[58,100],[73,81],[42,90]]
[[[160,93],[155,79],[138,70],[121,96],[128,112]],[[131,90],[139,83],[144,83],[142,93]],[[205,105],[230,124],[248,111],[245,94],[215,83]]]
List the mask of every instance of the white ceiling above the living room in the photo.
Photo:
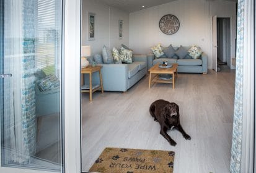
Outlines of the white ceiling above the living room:
[[[166,4],[167,2],[178,1],[178,0],[99,0],[104,4],[116,7],[126,12],[135,12],[142,9],[148,9],[150,7],[159,6],[161,4]],[[193,1],[193,0],[190,0]],[[215,1],[215,0],[206,0]],[[237,1],[237,0],[223,0],[223,1]],[[142,7],[144,6],[144,8]]]

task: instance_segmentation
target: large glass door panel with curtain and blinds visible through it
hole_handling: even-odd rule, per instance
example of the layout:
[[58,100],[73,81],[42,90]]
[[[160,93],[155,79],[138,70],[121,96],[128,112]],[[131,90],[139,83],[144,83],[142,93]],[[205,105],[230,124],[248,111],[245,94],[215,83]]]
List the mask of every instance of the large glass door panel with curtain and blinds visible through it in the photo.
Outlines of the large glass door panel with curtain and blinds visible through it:
[[61,0],[0,0],[1,166],[63,172]]

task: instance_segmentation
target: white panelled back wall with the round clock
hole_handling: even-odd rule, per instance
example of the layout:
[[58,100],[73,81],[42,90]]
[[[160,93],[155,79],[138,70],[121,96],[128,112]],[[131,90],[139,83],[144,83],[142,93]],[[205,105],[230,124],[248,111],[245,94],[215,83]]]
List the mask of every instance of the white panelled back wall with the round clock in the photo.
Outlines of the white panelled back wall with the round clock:
[[[176,15],[180,20],[179,31],[174,35],[165,35],[159,30],[159,20],[166,14]],[[236,2],[223,0],[179,0],[130,13],[129,46],[135,54],[148,54],[157,43],[163,46],[196,44],[208,54],[208,69],[212,69],[213,15],[231,17],[231,57],[235,57]],[[232,65],[231,69],[234,69]]]

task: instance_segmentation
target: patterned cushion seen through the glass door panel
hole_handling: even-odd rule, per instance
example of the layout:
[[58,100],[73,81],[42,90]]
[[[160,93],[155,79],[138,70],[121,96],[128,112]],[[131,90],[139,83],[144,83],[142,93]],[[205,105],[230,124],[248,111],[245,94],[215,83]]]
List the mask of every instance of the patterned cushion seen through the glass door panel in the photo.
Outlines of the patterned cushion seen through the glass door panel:
[[60,80],[56,75],[47,75],[45,78],[38,80],[37,85],[40,91],[50,91],[60,87]]

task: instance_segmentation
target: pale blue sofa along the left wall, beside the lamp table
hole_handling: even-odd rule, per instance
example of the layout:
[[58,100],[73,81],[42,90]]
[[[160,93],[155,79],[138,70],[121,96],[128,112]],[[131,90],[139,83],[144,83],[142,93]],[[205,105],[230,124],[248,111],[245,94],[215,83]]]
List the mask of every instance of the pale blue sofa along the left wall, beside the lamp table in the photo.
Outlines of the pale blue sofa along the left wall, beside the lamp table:
[[[95,55],[99,58],[102,55]],[[95,57],[94,56],[94,57]],[[90,64],[94,57],[87,58]],[[146,55],[133,55],[131,64],[97,64],[102,65],[102,83],[104,91],[127,91],[148,72]],[[89,75],[84,75],[84,83],[89,84]],[[99,73],[92,74],[92,85],[99,85]]]

